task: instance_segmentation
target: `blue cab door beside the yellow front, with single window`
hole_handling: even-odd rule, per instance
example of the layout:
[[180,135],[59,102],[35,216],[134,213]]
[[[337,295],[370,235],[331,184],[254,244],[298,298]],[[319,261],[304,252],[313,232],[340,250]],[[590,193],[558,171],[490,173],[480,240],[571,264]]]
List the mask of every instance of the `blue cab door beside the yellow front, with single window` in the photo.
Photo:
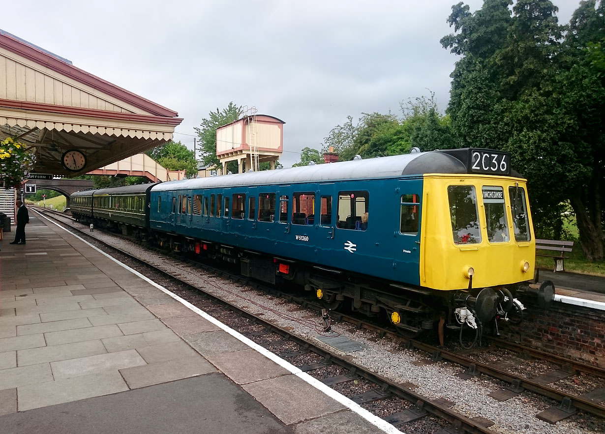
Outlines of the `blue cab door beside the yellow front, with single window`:
[[420,285],[420,249],[422,232],[422,180],[400,181],[391,196],[396,213],[394,228],[394,279]]

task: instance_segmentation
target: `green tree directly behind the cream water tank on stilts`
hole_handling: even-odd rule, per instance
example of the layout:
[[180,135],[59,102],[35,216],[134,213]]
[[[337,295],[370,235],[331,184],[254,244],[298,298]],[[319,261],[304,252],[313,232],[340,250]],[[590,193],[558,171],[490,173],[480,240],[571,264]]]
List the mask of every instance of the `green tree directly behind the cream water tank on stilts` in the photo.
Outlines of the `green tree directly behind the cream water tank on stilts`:
[[[216,111],[209,112],[208,117],[201,120],[201,128],[194,128],[200,137],[201,163],[204,166],[211,169],[221,168],[217,157],[217,128],[238,120],[242,114],[242,107],[230,102],[222,111],[217,108]],[[237,169],[235,170],[237,172]]]

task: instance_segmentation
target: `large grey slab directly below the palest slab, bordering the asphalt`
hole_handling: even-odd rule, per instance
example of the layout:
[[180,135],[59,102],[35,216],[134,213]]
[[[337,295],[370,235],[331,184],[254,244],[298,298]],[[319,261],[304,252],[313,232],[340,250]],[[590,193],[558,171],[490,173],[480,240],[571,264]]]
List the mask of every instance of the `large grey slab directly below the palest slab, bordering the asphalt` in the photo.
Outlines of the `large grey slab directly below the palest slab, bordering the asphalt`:
[[[54,406],[55,404],[69,403],[85,398],[116,394],[128,390],[125,381],[119,372],[102,372],[100,374],[83,375],[82,377],[64,378],[42,384],[30,384],[17,387],[19,400],[19,413],[39,407]],[[108,419],[113,418],[111,416]],[[5,419],[0,418],[6,427]],[[39,420],[38,424],[48,424]],[[9,431],[10,432],[10,431]],[[25,431],[22,431],[25,433]],[[62,432],[62,431],[57,431]],[[62,432],[63,433],[63,432]]]

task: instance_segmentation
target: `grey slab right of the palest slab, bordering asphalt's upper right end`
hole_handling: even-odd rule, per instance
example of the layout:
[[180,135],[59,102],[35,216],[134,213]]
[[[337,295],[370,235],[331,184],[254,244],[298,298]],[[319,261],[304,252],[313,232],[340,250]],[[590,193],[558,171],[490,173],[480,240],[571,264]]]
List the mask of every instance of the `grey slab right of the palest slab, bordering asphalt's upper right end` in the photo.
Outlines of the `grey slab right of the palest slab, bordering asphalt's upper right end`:
[[212,364],[197,355],[120,369],[120,374],[131,389],[137,389],[216,371],[217,369]]

